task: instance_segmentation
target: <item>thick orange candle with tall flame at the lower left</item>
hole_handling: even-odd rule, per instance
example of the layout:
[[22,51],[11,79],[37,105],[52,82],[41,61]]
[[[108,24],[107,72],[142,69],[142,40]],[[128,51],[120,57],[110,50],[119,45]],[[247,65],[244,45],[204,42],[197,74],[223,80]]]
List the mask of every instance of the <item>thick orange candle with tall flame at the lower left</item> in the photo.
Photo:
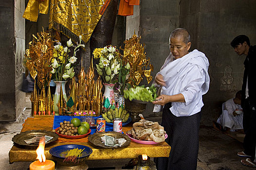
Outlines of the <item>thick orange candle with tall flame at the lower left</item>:
[[45,141],[44,137],[40,139],[39,145],[37,147],[37,159],[29,165],[29,170],[55,170],[55,163],[51,160],[46,160],[44,155]]

